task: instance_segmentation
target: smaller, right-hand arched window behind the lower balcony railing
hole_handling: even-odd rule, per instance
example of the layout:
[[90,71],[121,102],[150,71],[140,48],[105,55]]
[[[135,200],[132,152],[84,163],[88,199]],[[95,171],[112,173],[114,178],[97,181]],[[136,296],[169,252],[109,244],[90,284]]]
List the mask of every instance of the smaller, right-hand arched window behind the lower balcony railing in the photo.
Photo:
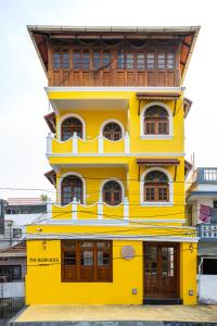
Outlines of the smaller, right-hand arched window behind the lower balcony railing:
[[117,181],[107,181],[104,184],[103,201],[110,205],[118,205],[122,202],[122,187]]

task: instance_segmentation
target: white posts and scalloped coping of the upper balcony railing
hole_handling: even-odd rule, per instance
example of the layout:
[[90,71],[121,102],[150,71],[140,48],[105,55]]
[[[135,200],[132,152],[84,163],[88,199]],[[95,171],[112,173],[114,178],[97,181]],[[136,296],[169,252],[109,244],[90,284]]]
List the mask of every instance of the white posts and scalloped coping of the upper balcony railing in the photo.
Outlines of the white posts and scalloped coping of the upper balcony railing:
[[[97,150],[97,153],[100,153],[100,154],[103,154],[105,152],[108,152],[108,151],[105,151],[104,150],[104,145],[105,145],[105,141],[110,141],[111,142],[111,152],[113,152],[113,149],[115,147],[115,145],[117,145],[118,142],[123,141],[124,142],[124,152],[126,154],[128,154],[130,152],[130,137],[129,137],[129,133],[126,131],[125,136],[117,140],[117,141],[112,141],[107,138],[105,138],[102,134],[100,134],[97,138],[94,139],[91,139],[91,140],[86,140],[86,139],[82,139],[82,138],[79,138],[77,136],[77,133],[74,133],[73,137],[65,140],[65,141],[61,141],[59,139],[55,139],[51,136],[51,133],[48,134],[47,136],[47,155],[52,155],[54,152],[52,150],[52,147],[53,147],[53,142],[56,141],[59,145],[61,143],[66,143],[71,141],[71,154],[78,154],[80,151],[79,151],[79,145],[78,142],[81,141],[84,143],[90,143],[90,142],[93,142],[93,141],[97,141],[98,142],[98,150]],[[62,152],[62,151],[61,151]],[[88,152],[91,152],[88,151]],[[93,151],[92,151],[93,152]]]

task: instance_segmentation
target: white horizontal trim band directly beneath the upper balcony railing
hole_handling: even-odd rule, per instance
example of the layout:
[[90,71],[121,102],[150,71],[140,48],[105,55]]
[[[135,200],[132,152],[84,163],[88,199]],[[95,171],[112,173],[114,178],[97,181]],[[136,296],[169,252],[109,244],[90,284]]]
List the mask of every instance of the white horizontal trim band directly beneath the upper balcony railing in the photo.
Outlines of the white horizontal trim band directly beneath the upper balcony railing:
[[[80,156],[80,158],[84,158],[84,156],[94,156],[95,158],[95,154],[98,154],[98,156],[129,156],[129,158],[135,158],[135,156],[146,156],[146,158],[181,158],[181,156],[186,156],[186,154],[182,152],[182,153],[179,153],[179,152],[130,152],[130,153],[125,153],[125,152],[115,152],[115,153],[98,153],[98,152],[94,152],[94,153],[77,153],[77,154],[73,154],[73,156]],[[48,158],[51,158],[51,156],[72,156],[71,153],[56,153],[56,154],[52,154],[52,155],[48,155]]]

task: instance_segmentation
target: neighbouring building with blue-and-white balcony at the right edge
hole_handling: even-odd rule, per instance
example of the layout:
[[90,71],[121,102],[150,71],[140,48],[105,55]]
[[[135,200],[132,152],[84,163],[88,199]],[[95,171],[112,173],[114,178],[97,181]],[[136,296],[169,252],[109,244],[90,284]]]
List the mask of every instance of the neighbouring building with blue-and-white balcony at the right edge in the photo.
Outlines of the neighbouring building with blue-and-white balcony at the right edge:
[[217,303],[217,167],[199,167],[188,180],[187,218],[199,240],[199,300]]

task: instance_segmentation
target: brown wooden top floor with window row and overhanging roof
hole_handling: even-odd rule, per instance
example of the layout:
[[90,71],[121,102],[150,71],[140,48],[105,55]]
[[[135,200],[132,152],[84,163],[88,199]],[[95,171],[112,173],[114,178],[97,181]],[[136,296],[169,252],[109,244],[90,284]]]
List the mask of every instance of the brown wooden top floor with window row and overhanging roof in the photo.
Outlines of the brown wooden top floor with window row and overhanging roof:
[[180,86],[200,27],[27,26],[49,86]]

